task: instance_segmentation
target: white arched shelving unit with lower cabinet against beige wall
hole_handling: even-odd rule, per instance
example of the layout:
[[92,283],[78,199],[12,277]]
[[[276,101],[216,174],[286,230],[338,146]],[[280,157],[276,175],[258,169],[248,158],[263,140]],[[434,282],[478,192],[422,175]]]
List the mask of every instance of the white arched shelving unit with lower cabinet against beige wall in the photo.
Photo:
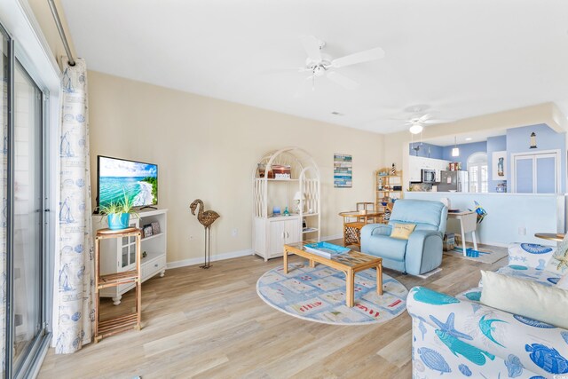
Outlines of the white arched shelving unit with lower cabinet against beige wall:
[[[289,166],[290,178],[268,178],[274,166]],[[273,171],[272,171],[273,172]],[[253,253],[282,257],[287,243],[317,240],[321,236],[319,169],[312,156],[299,147],[264,154],[252,173]],[[303,193],[296,211],[294,195]],[[289,216],[274,216],[272,209],[288,206]],[[305,221],[305,226],[304,222]]]

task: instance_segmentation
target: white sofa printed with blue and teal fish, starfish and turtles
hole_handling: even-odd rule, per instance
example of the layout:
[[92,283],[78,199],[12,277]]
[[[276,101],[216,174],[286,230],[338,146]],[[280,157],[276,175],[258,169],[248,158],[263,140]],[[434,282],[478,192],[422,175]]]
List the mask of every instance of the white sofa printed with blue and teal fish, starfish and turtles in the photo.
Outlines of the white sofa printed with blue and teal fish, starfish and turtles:
[[[564,256],[556,259],[554,249],[525,245],[533,251],[525,251],[527,259],[511,251],[509,265],[498,272],[555,285],[565,271],[558,268]],[[481,289],[458,296],[410,290],[414,379],[568,378],[568,330],[480,304]]]

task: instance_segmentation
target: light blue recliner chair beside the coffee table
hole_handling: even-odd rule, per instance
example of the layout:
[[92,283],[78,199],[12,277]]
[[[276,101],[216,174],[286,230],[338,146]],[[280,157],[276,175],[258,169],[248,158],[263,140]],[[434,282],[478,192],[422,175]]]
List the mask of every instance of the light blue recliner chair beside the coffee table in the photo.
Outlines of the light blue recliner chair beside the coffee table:
[[[361,252],[383,258],[383,267],[420,275],[442,264],[446,232],[446,205],[440,201],[405,200],[394,203],[389,225],[369,224],[361,229]],[[394,224],[414,224],[408,240],[390,237]]]

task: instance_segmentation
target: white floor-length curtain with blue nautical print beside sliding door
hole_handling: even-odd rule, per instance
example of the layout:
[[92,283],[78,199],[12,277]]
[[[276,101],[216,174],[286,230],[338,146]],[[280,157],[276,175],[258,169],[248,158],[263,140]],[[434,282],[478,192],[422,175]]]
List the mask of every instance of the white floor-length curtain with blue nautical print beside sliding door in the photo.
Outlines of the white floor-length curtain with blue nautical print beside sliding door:
[[58,354],[75,352],[91,342],[95,314],[86,75],[84,60],[76,59],[74,67],[65,67],[61,83],[59,260],[55,272],[59,281],[54,294]]

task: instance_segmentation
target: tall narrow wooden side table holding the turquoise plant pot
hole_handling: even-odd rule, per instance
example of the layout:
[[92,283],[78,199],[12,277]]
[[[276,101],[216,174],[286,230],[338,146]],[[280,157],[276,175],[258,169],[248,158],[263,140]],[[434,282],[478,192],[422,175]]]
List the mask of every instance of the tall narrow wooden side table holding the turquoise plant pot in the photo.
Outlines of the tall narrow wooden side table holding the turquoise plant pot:
[[[108,238],[136,237],[136,269],[125,272],[114,272],[106,275],[100,274],[100,241]],[[106,336],[113,336],[130,328],[140,330],[142,310],[142,288],[140,261],[140,229],[130,227],[121,230],[100,229],[95,236],[95,343]],[[136,311],[110,320],[100,320],[99,290],[108,287],[117,287],[121,284],[132,283],[136,285]]]

